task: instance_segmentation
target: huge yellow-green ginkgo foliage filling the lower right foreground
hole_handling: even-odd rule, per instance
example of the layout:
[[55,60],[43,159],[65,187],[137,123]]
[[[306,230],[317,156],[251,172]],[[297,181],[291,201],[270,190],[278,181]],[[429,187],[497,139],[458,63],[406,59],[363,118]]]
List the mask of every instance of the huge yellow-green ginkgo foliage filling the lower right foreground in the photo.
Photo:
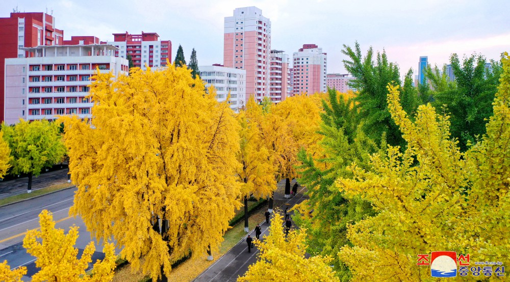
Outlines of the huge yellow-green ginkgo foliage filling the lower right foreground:
[[[487,134],[465,154],[449,133],[447,116],[421,105],[412,122],[399,103],[398,86],[388,103],[407,148],[374,154],[373,172],[351,166],[352,179],[337,186],[361,196],[378,211],[348,230],[353,246],[339,252],[354,280],[431,280],[417,266],[418,254],[450,250],[471,262],[510,264],[510,58],[503,59],[501,85]],[[473,264],[473,263],[472,263]]]

